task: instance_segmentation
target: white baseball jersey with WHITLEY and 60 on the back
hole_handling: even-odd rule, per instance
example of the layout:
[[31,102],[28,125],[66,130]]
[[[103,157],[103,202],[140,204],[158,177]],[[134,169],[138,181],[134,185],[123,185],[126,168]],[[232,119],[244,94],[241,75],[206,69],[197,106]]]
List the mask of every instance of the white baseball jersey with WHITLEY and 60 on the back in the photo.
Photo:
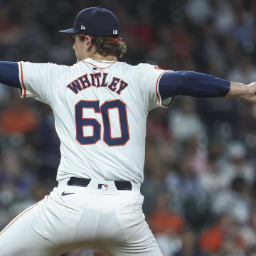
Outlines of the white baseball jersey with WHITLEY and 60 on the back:
[[146,117],[162,105],[158,85],[166,70],[91,58],[70,67],[18,67],[22,97],[53,110],[60,137],[58,181],[77,176],[142,183]]

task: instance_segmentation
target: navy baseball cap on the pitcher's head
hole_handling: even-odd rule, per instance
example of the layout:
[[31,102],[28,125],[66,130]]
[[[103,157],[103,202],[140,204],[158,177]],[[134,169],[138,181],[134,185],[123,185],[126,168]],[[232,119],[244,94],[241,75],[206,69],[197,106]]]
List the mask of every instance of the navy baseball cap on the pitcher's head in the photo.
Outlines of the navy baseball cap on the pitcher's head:
[[120,26],[117,16],[112,11],[99,6],[83,9],[75,16],[73,28],[60,32],[118,38]]

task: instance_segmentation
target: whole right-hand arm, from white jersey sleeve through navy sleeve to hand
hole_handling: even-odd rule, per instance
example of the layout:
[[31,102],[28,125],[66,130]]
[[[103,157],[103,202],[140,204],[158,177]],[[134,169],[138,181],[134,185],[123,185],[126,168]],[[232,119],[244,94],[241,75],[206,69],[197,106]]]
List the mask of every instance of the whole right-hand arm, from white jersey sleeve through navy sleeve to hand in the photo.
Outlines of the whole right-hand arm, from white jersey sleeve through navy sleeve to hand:
[[137,81],[147,112],[157,105],[168,105],[177,95],[236,97],[256,102],[256,82],[245,85],[194,71],[161,70],[154,65],[139,64]]

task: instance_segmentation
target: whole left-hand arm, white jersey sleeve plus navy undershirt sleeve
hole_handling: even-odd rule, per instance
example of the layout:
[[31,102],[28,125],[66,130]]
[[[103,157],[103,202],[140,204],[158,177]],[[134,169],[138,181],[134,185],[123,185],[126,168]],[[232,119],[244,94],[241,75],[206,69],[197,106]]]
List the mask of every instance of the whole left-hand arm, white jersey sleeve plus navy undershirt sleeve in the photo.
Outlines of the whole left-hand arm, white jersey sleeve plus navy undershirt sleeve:
[[33,97],[50,105],[68,66],[53,63],[0,62],[0,82],[17,87],[21,97]]

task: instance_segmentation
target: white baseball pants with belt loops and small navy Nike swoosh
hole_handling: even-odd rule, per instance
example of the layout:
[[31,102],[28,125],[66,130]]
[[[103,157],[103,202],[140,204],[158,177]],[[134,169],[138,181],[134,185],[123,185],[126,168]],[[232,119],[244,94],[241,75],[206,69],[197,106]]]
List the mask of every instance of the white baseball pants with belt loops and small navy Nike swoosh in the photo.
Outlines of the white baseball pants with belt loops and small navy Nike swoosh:
[[86,247],[108,256],[163,256],[144,220],[139,184],[119,191],[114,181],[92,180],[87,187],[67,181],[1,231],[0,256],[55,256]]

